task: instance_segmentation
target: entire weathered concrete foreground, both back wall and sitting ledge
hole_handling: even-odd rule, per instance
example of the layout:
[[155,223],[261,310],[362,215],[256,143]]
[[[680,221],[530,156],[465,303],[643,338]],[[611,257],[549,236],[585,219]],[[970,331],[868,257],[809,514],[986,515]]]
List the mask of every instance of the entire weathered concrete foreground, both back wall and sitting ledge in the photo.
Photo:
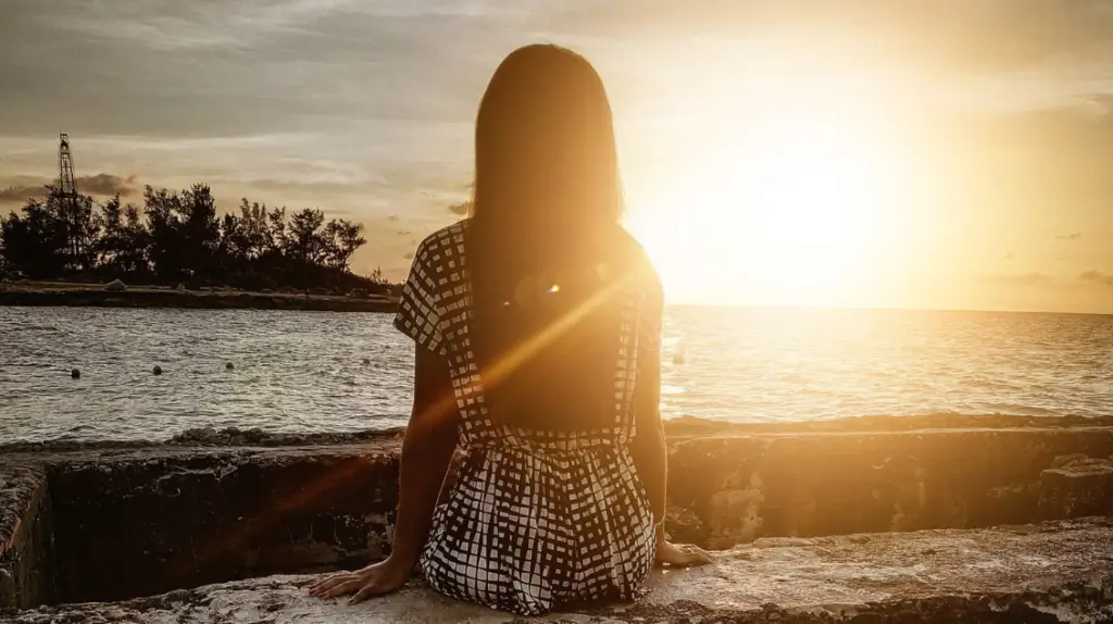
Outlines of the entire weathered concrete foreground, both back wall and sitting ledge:
[[[400,433],[0,448],[0,622],[513,621],[420,583],[361,606],[302,593],[390,552]],[[717,563],[542,621],[1113,622],[1113,423],[668,435],[668,528]]]

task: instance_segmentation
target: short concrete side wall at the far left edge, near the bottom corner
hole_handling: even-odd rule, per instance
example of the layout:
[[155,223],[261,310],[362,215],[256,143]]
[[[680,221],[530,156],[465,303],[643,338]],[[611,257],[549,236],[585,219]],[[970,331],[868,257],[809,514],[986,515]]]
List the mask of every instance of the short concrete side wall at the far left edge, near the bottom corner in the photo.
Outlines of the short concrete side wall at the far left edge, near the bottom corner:
[[0,608],[53,600],[53,532],[40,466],[0,466]]

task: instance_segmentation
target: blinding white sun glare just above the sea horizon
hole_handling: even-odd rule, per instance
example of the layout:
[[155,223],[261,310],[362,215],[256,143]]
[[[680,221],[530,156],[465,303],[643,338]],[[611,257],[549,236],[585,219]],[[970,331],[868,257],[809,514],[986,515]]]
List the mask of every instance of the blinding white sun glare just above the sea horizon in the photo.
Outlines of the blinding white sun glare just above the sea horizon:
[[641,189],[631,228],[670,296],[691,303],[856,305],[899,210],[892,141],[853,116],[779,111],[705,143]]

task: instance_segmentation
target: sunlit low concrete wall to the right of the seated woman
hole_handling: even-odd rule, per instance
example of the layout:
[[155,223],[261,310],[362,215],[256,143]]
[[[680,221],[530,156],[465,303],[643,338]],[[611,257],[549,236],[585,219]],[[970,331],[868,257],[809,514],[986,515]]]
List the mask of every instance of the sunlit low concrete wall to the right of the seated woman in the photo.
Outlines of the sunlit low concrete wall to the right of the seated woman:
[[1109,427],[721,435],[670,447],[671,502],[713,548],[1113,515]]

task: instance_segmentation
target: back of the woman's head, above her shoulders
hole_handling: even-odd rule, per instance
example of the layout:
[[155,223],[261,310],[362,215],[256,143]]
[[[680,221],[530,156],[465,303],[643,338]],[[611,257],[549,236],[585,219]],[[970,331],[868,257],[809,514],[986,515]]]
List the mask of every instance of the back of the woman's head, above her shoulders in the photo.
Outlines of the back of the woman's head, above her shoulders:
[[476,221],[579,229],[622,216],[607,90],[587,59],[556,46],[512,52],[475,123]]

